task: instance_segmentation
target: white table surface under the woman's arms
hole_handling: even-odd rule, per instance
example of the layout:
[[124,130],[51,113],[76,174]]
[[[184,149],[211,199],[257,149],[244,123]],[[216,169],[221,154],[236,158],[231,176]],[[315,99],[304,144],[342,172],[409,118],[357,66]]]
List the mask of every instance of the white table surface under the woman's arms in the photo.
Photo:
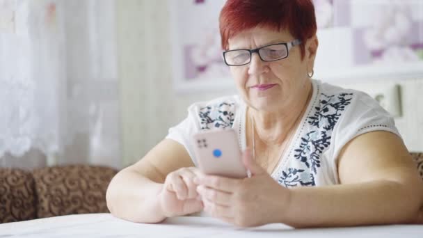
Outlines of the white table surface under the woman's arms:
[[5,223],[0,237],[420,237],[423,225],[377,225],[356,228],[293,229],[270,224],[237,228],[210,217],[184,216],[163,223],[143,224],[111,214],[81,214]]

